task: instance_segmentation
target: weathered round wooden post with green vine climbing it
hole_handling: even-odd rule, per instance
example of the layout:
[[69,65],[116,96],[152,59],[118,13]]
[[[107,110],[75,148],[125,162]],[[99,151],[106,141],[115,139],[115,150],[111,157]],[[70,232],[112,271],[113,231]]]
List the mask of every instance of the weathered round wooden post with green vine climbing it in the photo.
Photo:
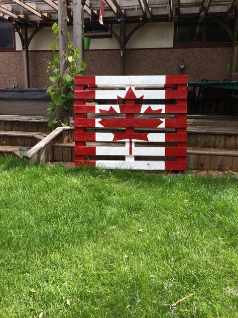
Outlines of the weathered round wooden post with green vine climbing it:
[[[63,76],[68,73],[68,45],[67,45],[67,2],[58,1],[58,23],[59,23],[59,57],[60,74]],[[66,89],[61,89],[61,94],[65,94]],[[61,110],[61,122],[70,123],[69,110]]]

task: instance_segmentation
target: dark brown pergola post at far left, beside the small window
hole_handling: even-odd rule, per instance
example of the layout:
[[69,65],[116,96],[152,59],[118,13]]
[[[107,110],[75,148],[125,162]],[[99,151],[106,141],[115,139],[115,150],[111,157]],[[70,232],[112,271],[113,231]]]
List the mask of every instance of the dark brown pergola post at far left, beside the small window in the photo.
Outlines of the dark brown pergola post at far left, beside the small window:
[[28,51],[28,34],[27,26],[24,25],[21,28],[22,41],[22,59],[23,59],[23,71],[24,71],[24,87],[30,88],[30,70],[29,70],[29,51]]

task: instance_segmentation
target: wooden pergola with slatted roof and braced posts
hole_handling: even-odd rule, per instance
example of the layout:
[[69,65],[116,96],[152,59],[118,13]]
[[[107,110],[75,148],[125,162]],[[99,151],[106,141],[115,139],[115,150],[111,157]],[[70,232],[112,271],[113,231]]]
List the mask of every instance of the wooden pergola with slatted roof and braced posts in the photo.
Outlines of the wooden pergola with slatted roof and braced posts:
[[[179,21],[182,19],[222,20],[236,17],[237,0],[103,0],[105,10],[103,25],[108,29],[120,47],[120,72],[125,74],[125,49],[131,36],[146,23]],[[32,38],[44,27],[51,26],[58,21],[60,29],[74,26],[74,45],[81,50],[84,25],[96,24],[99,20],[100,0],[0,0],[0,18],[11,21],[18,32],[23,51],[25,70],[25,86],[30,87],[28,48]],[[237,19],[235,19],[237,20]],[[126,24],[134,23],[134,29],[126,34]],[[117,35],[111,28],[112,24],[120,25]],[[35,28],[28,37],[28,28]],[[237,29],[238,23],[231,37],[233,39],[232,71],[236,70],[237,61]],[[229,31],[231,32],[231,31]],[[66,50],[64,36],[60,35],[60,51]],[[63,54],[61,54],[63,55]],[[63,62],[63,61],[61,61]]]

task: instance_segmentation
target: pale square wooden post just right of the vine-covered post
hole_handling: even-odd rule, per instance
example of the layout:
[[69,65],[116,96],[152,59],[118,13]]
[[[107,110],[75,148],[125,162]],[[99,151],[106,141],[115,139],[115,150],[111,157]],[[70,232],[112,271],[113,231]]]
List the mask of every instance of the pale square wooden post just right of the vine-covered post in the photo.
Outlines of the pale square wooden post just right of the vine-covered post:
[[[79,49],[81,52],[81,57],[83,59],[83,24],[84,24],[84,11],[82,8],[81,0],[74,0],[73,2],[73,42],[75,48]],[[77,60],[77,63],[79,61]]]

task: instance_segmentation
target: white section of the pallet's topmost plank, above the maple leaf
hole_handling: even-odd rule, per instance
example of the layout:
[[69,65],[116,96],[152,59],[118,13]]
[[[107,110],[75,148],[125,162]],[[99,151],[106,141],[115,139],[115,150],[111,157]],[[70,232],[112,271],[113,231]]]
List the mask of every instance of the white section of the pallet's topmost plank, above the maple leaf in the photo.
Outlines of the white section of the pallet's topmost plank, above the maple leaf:
[[165,75],[95,76],[96,85],[164,85]]

